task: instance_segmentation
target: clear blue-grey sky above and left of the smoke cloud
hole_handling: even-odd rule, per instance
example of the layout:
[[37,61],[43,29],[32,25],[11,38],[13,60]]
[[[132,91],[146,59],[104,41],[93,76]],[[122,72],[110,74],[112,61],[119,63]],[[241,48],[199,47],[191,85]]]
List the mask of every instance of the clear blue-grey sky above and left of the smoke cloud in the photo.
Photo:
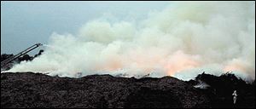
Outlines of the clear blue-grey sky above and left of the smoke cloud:
[[[1,1],[1,54],[17,54],[34,43],[48,43],[54,32],[76,34],[86,22],[102,17],[113,21],[144,19],[148,12],[160,11],[168,4]],[[38,53],[38,49],[34,52]]]

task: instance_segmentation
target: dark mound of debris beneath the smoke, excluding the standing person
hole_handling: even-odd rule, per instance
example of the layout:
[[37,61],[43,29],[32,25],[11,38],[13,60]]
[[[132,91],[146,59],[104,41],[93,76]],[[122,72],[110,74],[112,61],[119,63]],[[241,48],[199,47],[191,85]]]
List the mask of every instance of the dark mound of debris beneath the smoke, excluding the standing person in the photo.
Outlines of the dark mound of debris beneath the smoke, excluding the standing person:
[[[210,85],[193,87],[198,80]],[[236,88],[234,88],[236,86]],[[184,82],[175,77],[113,77],[91,75],[80,78],[50,77],[41,73],[2,73],[1,108],[4,107],[255,107],[254,83],[232,74],[214,77],[201,74]]]

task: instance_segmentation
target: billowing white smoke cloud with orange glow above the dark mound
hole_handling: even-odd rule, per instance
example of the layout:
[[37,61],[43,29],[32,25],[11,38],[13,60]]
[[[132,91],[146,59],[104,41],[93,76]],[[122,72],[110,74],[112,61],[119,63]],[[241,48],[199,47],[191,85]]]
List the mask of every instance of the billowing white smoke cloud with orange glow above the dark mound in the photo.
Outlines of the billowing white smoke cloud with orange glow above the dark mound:
[[254,2],[175,3],[137,23],[92,20],[78,35],[53,33],[44,54],[9,70],[181,79],[229,71],[255,77]]

